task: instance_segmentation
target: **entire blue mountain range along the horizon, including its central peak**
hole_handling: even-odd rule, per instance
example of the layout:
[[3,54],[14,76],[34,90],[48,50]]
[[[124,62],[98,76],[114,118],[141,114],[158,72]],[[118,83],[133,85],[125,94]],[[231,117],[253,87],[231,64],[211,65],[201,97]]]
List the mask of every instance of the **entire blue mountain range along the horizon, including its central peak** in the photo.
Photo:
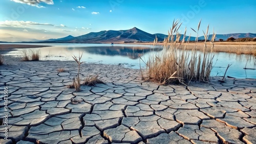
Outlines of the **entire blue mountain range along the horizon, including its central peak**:
[[[8,34],[7,34],[8,35]],[[9,35],[10,36],[10,35]],[[119,31],[100,31],[91,32],[85,35],[73,37],[71,35],[58,39],[48,39],[48,40],[37,40],[37,39],[26,39],[26,38],[16,38],[16,37],[0,37],[2,42],[40,42],[40,43],[111,43],[111,42],[152,42],[155,38],[158,41],[163,41],[167,35],[165,34],[150,34],[144,32],[136,27],[129,30],[119,30]],[[180,39],[183,39],[184,35],[181,35]],[[208,39],[211,39],[212,35],[209,35]],[[234,34],[217,34],[215,40],[223,39],[226,40],[229,37],[234,38],[245,38],[256,37],[256,34],[252,33],[234,33]],[[187,40],[188,36],[185,37]],[[196,37],[190,37],[189,40],[194,41]],[[204,36],[200,36],[199,40],[204,40]]]

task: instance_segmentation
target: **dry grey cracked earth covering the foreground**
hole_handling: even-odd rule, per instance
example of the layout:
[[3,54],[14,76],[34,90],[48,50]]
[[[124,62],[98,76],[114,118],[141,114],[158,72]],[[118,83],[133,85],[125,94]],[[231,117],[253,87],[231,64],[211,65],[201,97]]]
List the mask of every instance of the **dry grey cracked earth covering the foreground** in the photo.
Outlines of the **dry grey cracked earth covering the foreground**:
[[255,79],[162,86],[136,69],[82,64],[83,78],[100,74],[104,84],[75,92],[72,61],[0,68],[0,91],[9,92],[9,140],[1,125],[0,143],[256,143]]

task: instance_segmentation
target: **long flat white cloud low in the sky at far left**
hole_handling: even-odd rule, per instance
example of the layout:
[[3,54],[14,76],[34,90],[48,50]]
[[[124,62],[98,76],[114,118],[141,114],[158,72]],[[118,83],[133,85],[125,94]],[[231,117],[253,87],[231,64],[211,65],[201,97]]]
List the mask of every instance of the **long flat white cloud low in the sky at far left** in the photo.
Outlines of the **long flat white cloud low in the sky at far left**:
[[17,20],[5,20],[0,21],[0,26],[7,26],[7,27],[27,27],[31,25],[38,25],[38,26],[55,26],[50,23],[38,23],[33,21],[17,21]]

